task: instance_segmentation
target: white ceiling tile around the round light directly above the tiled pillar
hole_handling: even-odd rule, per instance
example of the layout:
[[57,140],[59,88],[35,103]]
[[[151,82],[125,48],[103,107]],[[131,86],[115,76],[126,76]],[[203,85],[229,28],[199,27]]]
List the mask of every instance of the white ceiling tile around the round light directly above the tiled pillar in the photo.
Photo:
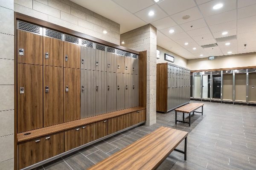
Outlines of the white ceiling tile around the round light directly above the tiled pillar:
[[[149,12],[153,11],[154,15],[148,15]],[[167,17],[166,13],[157,6],[157,4],[149,6],[141,11],[135,13],[135,15],[147,23],[152,23],[156,20]]]

